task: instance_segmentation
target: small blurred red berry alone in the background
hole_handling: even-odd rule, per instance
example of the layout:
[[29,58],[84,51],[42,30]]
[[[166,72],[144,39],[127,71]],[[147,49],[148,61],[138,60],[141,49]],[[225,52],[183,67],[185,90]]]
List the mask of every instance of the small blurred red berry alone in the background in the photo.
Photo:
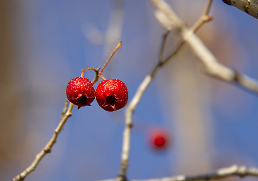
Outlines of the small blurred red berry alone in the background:
[[154,149],[164,149],[169,142],[169,134],[165,129],[154,128],[149,132],[149,142]]

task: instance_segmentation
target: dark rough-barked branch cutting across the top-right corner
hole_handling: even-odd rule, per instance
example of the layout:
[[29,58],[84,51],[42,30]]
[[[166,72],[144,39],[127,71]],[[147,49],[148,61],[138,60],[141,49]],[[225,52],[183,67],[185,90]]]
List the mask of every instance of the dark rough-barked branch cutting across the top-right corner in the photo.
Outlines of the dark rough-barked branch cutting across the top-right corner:
[[258,19],[258,1],[257,0],[222,0],[230,6],[234,6],[239,10]]

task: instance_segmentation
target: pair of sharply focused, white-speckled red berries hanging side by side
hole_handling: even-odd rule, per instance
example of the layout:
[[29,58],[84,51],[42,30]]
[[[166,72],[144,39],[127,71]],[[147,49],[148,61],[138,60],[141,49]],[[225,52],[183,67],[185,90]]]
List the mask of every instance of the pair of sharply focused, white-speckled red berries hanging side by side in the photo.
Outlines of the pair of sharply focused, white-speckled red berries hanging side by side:
[[67,84],[67,98],[78,109],[83,106],[91,106],[96,100],[101,108],[106,111],[116,111],[123,108],[128,101],[126,85],[118,79],[102,80],[96,89],[92,82],[85,77],[75,77]]

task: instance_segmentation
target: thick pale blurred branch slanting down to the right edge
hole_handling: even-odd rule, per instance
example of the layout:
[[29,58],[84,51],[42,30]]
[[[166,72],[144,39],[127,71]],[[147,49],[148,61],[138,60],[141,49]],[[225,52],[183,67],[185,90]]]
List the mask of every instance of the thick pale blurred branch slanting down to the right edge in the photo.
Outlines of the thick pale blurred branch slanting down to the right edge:
[[[186,27],[163,0],[151,0],[157,8],[155,15],[160,24],[167,30],[176,30],[182,39],[188,43],[192,51],[196,53],[200,61],[204,64],[207,74],[221,80],[236,83],[242,87],[258,93],[258,82],[247,75],[231,70],[220,64],[211,51],[204,45],[201,39]],[[175,25],[176,24],[176,25]]]

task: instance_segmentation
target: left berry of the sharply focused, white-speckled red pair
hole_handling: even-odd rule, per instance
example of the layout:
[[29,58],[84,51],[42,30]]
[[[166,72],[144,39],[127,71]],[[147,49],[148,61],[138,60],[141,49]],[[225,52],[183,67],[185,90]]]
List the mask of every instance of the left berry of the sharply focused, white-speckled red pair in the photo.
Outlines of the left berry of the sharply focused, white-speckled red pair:
[[95,89],[88,78],[75,77],[67,84],[67,99],[78,106],[91,106],[95,99]]

